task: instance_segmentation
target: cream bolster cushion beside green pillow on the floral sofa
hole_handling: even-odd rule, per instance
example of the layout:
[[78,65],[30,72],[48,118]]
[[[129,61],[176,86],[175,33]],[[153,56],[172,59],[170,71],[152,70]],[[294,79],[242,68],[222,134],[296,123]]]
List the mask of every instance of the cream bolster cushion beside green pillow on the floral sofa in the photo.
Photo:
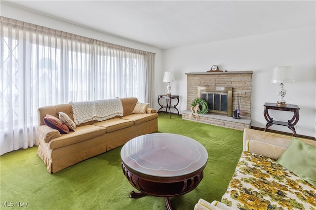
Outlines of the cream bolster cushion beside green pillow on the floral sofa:
[[262,141],[247,140],[246,142],[246,151],[258,155],[263,155],[274,160],[277,160],[285,150],[286,148],[284,147],[276,146]]

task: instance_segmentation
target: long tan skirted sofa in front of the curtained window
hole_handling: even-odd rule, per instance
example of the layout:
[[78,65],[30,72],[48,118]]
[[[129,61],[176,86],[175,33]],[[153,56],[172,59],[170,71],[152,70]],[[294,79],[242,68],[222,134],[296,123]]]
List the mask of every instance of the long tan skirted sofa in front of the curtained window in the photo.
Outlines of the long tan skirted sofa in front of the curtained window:
[[47,166],[49,173],[56,173],[80,161],[94,157],[123,145],[134,137],[158,131],[158,114],[147,108],[144,114],[133,114],[137,98],[120,99],[123,116],[115,116],[104,121],[90,121],[76,126],[75,131],[60,134],[44,124],[46,114],[58,118],[64,112],[74,120],[70,104],[52,105],[38,109],[37,127],[40,145],[38,155]]

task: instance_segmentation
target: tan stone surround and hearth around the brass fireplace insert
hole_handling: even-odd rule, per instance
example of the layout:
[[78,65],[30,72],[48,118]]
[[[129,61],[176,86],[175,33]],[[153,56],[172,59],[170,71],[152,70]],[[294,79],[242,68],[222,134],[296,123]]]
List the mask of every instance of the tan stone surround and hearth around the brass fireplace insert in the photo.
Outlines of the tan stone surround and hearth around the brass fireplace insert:
[[[222,71],[222,72],[199,72],[187,74],[187,110],[182,112],[183,119],[199,121],[195,117],[189,118],[191,103],[197,97],[197,87],[232,87],[233,102],[232,114],[237,107],[237,94],[241,95],[240,115],[241,120],[233,117],[221,117],[216,114],[200,115],[200,121],[204,123],[215,124],[223,127],[231,127],[242,130],[250,127],[251,123],[251,81],[253,71]],[[206,119],[206,120],[205,120]],[[244,123],[246,120],[246,123]],[[232,125],[231,125],[232,124]]]

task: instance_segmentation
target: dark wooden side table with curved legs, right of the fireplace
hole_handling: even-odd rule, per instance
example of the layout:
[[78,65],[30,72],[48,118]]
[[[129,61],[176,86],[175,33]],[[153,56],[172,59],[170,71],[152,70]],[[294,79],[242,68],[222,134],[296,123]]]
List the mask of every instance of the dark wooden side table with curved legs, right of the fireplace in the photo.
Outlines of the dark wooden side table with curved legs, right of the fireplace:
[[[296,123],[300,119],[300,115],[299,115],[300,107],[298,107],[298,105],[286,104],[286,106],[282,107],[282,106],[277,106],[276,103],[265,103],[264,106],[265,106],[265,109],[264,109],[263,114],[267,120],[267,125],[265,128],[265,131],[267,131],[267,129],[272,125],[283,125],[283,126],[287,126],[289,129],[291,129],[294,136],[297,137],[294,125],[296,125]],[[293,111],[294,114],[293,114],[292,119],[287,120],[287,122],[276,121],[276,120],[273,120],[272,117],[270,117],[270,115],[268,113],[269,109],[280,110],[280,111]]]

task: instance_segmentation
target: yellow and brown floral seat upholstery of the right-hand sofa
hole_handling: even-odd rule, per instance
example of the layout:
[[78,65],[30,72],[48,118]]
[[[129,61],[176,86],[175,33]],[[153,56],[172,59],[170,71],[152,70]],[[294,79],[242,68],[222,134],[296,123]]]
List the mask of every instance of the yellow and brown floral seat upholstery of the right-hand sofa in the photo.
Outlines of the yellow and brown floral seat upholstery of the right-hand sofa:
[[222,203],[233,209],[316,209],[316,187],[275,160],[243,151]]

